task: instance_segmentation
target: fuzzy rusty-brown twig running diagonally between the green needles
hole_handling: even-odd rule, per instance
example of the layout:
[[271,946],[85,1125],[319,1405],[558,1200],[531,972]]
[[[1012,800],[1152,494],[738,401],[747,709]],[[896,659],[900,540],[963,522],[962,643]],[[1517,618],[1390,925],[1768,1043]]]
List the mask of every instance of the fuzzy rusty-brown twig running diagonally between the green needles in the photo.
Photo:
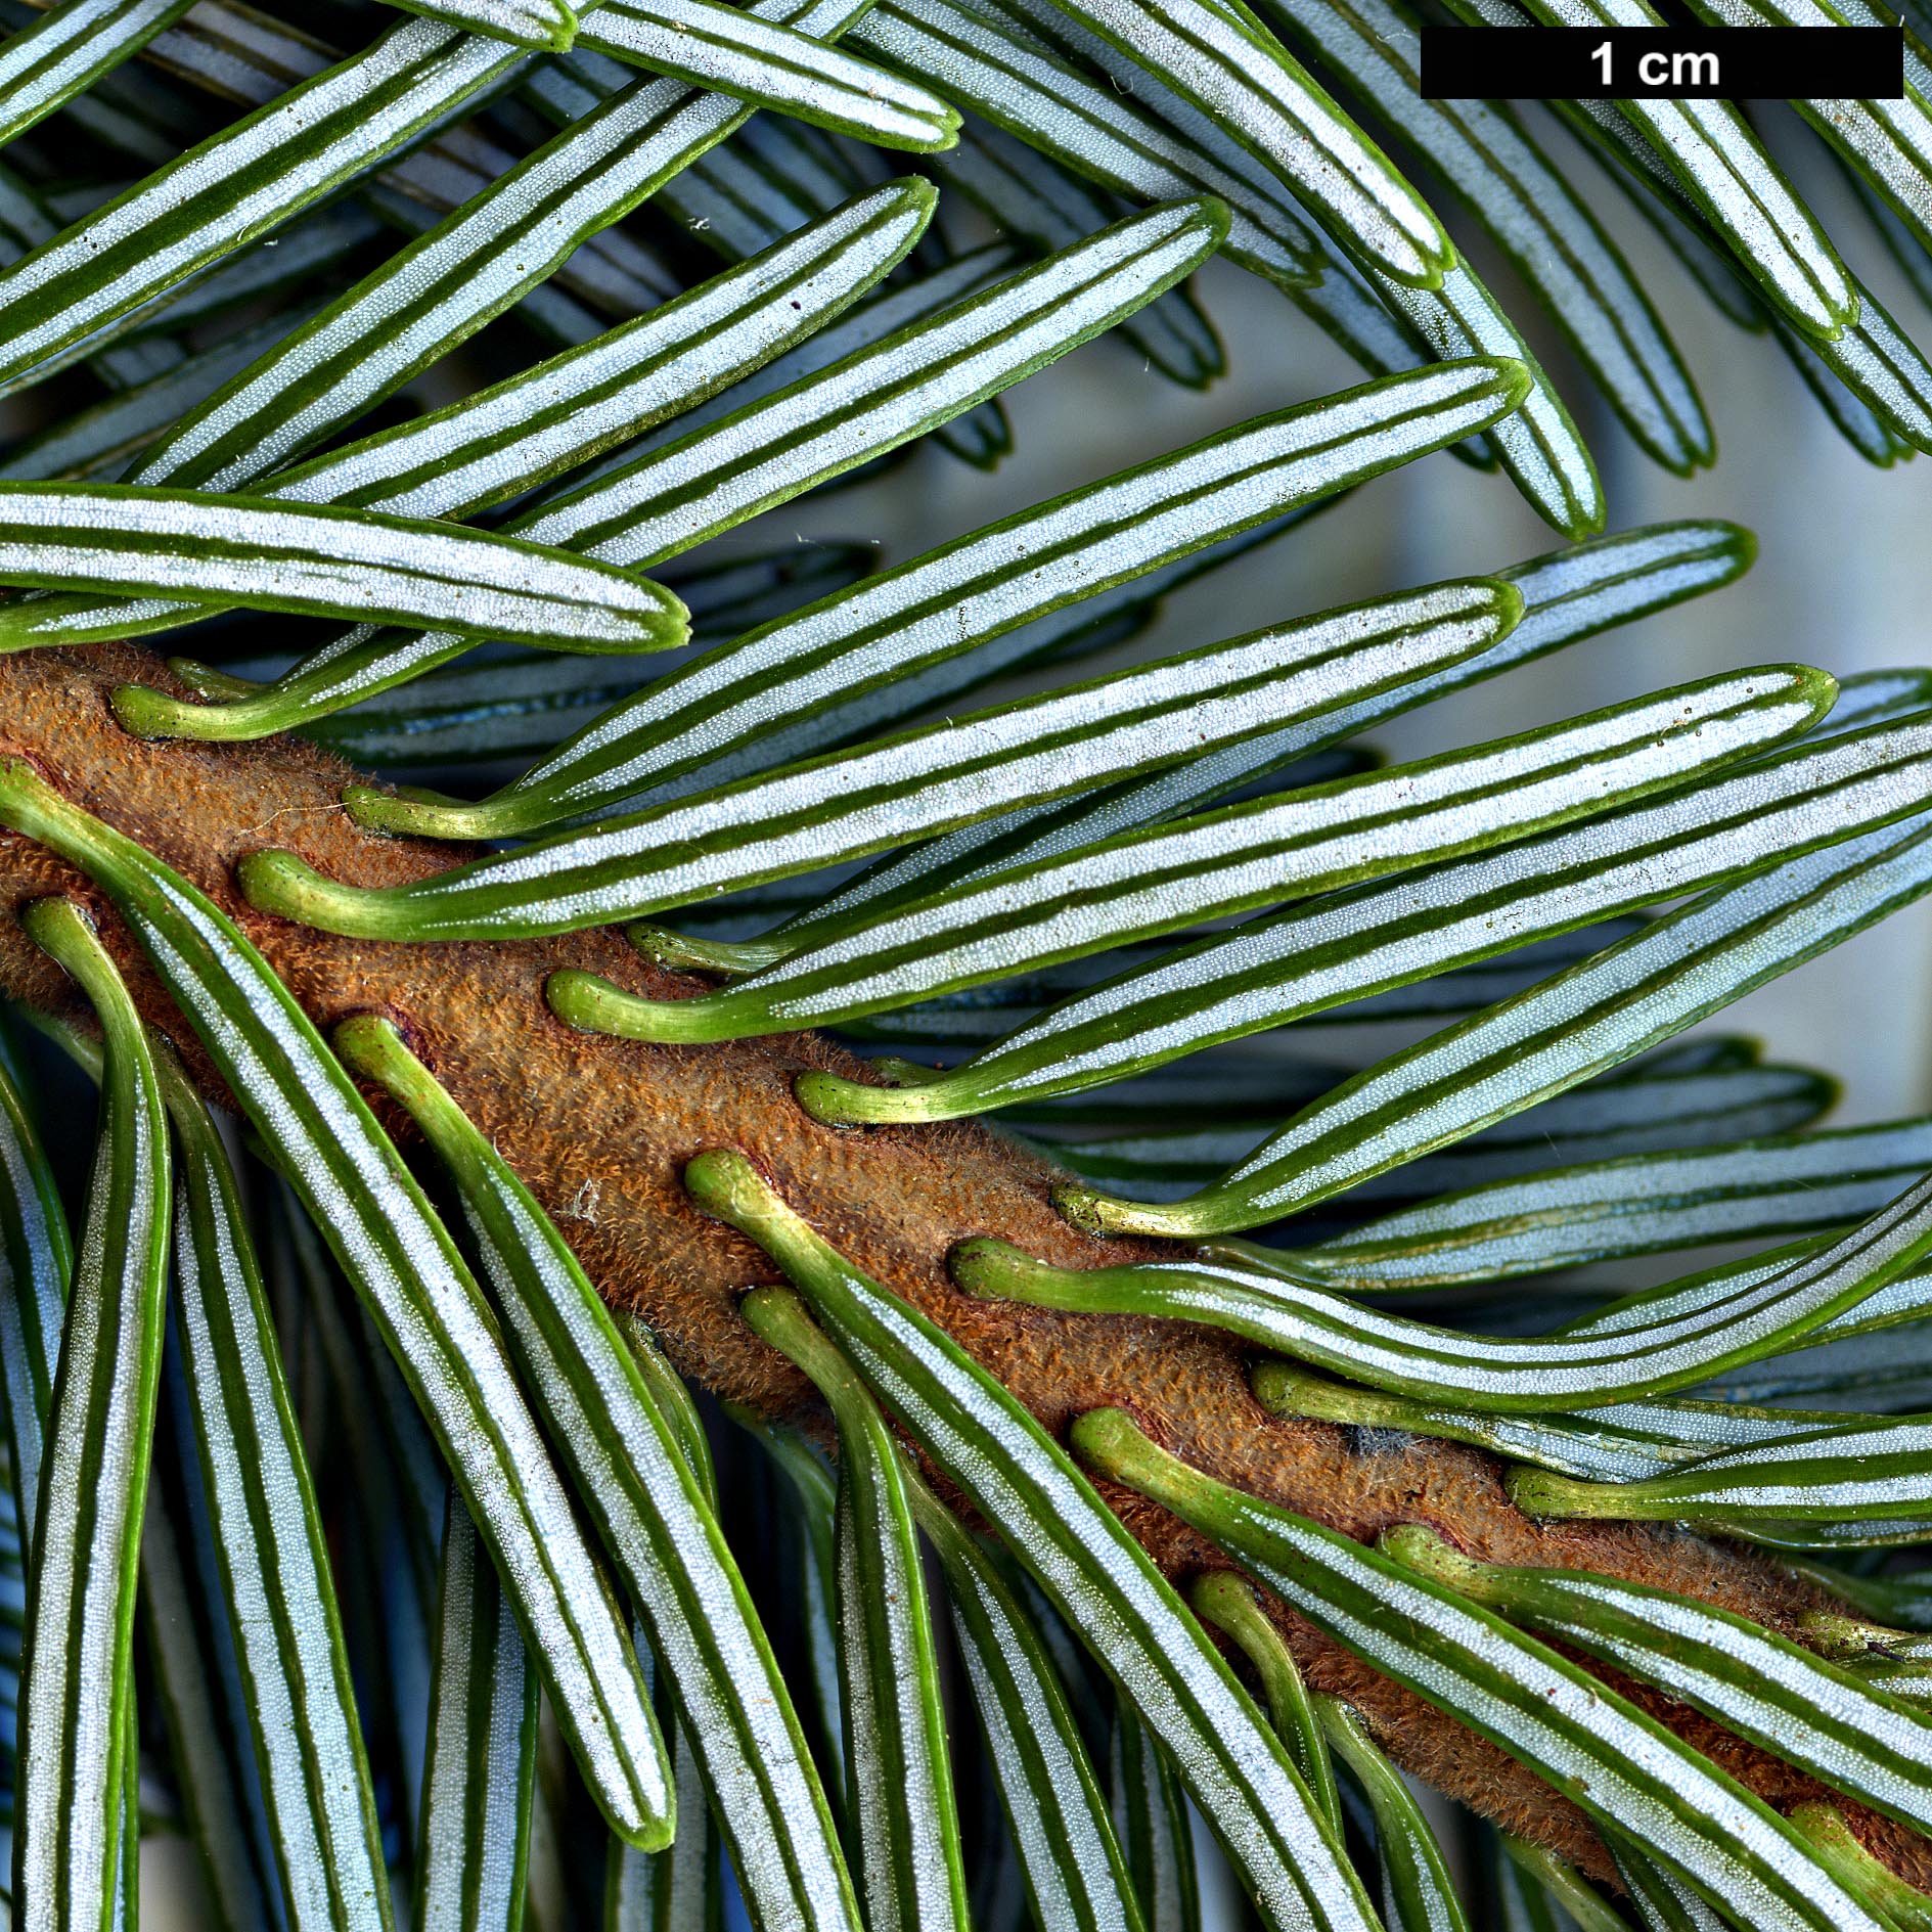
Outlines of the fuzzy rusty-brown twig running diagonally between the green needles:
[[[156,659],[129,645],[0,659],[0,752],[31,757],[68,798],[213,895],[325,1032],[367,1010],[402,1024],[556,1217],[605,1296],[638,1310],[678,1368],[717,1395],[773,1416],[811,1403],[804,1378],[736,1314],[738,1293],[771,1279],[771,1264],[699,1213],[680,1184],[694,1153],[734,1146],[759,1161],[827,1240],[943,1321],[1055,1432],[1086,1408],[1119,1405],[1196,1466],[1349,1536],[1428,1522],[1478,1557],[1594,1569],[1704,1598],[1789,1634],[1801,1615],[1830,1605],[1812,1584],[1752,1551],[1667,1526],[1536,1524],[1509,1503],[1497,1461],[1478,1449],[1271,1418],[1248,1391],[1242,1345],[1209,1329],[1059,1316],[960,1294],[945,1256],[968,1235],[999,1235],[1074,1267],[1157,1250],[1068,1227],[1047,1202],[1049,1169],[989,1128],[838,1130],[811,1121],[792,1099],[798,1072],[825,1066],[866,1078],[862,1063],[815,1036],[659,1047],[572,1032],[543,1003],[543,981],[558,966],[657,997],[699,991],[699,981],[647,964],[614,933],[388,945],[257,914],[236,889],[234,866],[263,846],[288,846],[357,885],[423,877],[464,854],[359,831],[338,806],[348,769],[299,740],[129,738],[108,709],[108,692],[128,680],[168,684]],[[85,1018],[71,985],[15,918],[46,893],[73,893],[100,912],[102,937],[143,1012],[184,1047],[211,1095],[224,1099],[100,895],[17,835],[0,837],[0,991]],[[410,1138],[392,1107],[379,1101],[379,1109],[398,1138]],[[1159,1507],[1126,1493],[1109,1499],[1169,1573],[1223,1561]],[[1403,1766],[1507,1830],[1609,1876],[1575,1806],[1285,1609],[1279,1617],[1310,1681],[1358,1706]],[[1611,1681],[1779,1810],[1828,1797],[1698,1714]],[[1888,1864],[1932,1889],[1932,1855],[1917,1833],[1849,1803],[1843,1808]]]

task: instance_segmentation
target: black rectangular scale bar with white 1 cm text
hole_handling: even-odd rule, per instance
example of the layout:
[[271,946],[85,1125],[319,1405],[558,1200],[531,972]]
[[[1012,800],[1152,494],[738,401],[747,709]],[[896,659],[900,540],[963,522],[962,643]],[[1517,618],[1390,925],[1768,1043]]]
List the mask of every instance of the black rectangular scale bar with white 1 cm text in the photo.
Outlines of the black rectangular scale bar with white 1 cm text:
[[1897,100],[1901,27],[1424,27],[1424,100]]

